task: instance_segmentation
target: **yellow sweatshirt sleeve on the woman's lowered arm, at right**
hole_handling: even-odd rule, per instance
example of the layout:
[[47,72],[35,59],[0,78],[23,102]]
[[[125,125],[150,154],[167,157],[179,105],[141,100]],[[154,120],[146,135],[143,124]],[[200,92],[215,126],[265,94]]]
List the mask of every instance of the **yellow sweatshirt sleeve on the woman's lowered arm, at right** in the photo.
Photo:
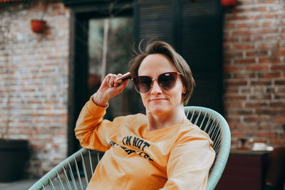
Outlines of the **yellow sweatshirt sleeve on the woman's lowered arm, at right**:
[[166,189],[206,189],[215,152],[207,134],[181,137],[170,152]]

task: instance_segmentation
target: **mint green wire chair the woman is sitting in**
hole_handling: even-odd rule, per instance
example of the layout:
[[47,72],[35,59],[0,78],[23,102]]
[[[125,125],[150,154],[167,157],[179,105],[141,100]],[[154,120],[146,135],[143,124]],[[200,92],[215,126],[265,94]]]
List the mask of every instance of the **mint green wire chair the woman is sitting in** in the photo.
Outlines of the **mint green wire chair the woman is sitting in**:
[[[214,189],[229,157],[231,146],[229,125],[222,115],[206,107],[186,106],[185,114],[190,122],[207,132],[214,142],[216,158],[209,171],[207,190]],[[29,190],[86,189],[102,155],[102,152],[82,148],[48,171]]]

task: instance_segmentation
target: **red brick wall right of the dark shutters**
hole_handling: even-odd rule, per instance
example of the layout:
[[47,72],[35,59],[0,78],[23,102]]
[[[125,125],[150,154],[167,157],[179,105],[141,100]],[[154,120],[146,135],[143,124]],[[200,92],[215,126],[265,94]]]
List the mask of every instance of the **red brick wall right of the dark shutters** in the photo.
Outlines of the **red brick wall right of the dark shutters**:
[[[285,144],[285,1],[239,0],[224,16],[224,109],[241,137]],[[247,144],[247,145],[250,145]]]

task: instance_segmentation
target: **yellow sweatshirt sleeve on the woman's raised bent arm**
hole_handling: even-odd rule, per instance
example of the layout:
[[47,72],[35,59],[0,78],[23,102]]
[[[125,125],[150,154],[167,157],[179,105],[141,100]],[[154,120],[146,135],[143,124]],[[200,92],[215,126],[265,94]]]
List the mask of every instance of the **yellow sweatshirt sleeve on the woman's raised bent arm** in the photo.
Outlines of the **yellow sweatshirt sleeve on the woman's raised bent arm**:
[[[92,97],[91,97],[92,98]],[[99,107],[91,100],[81,110],[76,122],[76,138],[82,147],[105,152],[110,148],[106,138],[110,132],[110,121],[103,120],[107,107]],[[104,127],[101,127],[104,126]]]

